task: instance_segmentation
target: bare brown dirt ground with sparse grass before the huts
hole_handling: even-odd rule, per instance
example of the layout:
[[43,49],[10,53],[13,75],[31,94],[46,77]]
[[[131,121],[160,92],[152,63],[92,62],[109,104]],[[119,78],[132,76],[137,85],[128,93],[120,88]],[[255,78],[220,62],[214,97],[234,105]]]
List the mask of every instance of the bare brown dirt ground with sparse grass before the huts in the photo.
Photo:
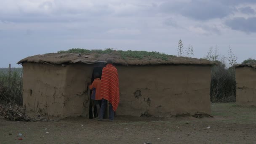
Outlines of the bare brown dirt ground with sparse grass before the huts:
[[[1,144],[255,144],[256,107],[212,104],[212,117],[126,117],[98,122],[83,117],[59,122],[0,118]],[[207,128],[210,127],[210,128]],[[22,136],[19,136],[19,133]],[[23,140],[18,140],[20,137]],[[147,144],[146,143],[146,144]]]

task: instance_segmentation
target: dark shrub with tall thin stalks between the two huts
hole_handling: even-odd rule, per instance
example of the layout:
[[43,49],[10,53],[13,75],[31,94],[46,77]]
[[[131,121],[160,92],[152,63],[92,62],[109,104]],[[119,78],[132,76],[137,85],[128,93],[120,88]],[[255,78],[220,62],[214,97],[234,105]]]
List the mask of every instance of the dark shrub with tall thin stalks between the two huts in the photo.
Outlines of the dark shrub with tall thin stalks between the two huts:
[[[235,69],[232,67],[237,64],[237,57],[229,46],[228,58],[219,55],[218,46],[211,47],[205,59],[217,63],[211,71],[211,102],[234,102],[236,97]],[[227,63],[229,68],[226,66]]]

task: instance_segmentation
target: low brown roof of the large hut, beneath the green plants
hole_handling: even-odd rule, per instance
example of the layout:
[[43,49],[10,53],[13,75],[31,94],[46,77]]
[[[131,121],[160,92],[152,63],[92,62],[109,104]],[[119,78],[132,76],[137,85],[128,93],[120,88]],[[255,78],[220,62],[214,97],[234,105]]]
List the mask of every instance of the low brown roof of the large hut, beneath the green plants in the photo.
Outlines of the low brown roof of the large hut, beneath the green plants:
[[77,54],[77,53],[48,53],[43,55],[29,56],[22,59],[17,64],[25,62],[49,63],[49,64],[72,64],[72,63],[107,63],[107,59],[112,59],[115,64],[121,65],[155,65],[155,64],[196,64],[196,65],[215,65],[214,62],[205,59],[195,59],[187,57],[168,56],[165,59],[155,57],[144,57],[143,59],[125,57],[118,53],[111,54]]

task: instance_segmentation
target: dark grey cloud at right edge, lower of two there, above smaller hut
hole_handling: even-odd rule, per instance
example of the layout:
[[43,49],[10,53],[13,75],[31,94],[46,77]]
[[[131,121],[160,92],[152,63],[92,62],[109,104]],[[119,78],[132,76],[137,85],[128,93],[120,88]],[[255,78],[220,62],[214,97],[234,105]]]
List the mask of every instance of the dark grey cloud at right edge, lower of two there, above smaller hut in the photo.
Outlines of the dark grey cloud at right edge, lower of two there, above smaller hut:
[[234,19],[229,19],[225,24],[231,29],[243,31],[246,33],[256,32],[256,17],[250,17],[245,19],[243,17],[235,17]]

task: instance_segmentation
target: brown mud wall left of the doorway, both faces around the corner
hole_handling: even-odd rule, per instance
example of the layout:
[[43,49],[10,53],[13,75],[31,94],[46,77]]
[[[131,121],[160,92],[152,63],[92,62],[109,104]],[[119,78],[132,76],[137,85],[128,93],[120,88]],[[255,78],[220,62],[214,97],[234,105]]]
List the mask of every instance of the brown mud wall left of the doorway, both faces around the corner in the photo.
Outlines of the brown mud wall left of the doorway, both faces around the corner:
[[23,103],[27,111],[59,117],[88,117],[87,83],[93,65],[24,63]]

